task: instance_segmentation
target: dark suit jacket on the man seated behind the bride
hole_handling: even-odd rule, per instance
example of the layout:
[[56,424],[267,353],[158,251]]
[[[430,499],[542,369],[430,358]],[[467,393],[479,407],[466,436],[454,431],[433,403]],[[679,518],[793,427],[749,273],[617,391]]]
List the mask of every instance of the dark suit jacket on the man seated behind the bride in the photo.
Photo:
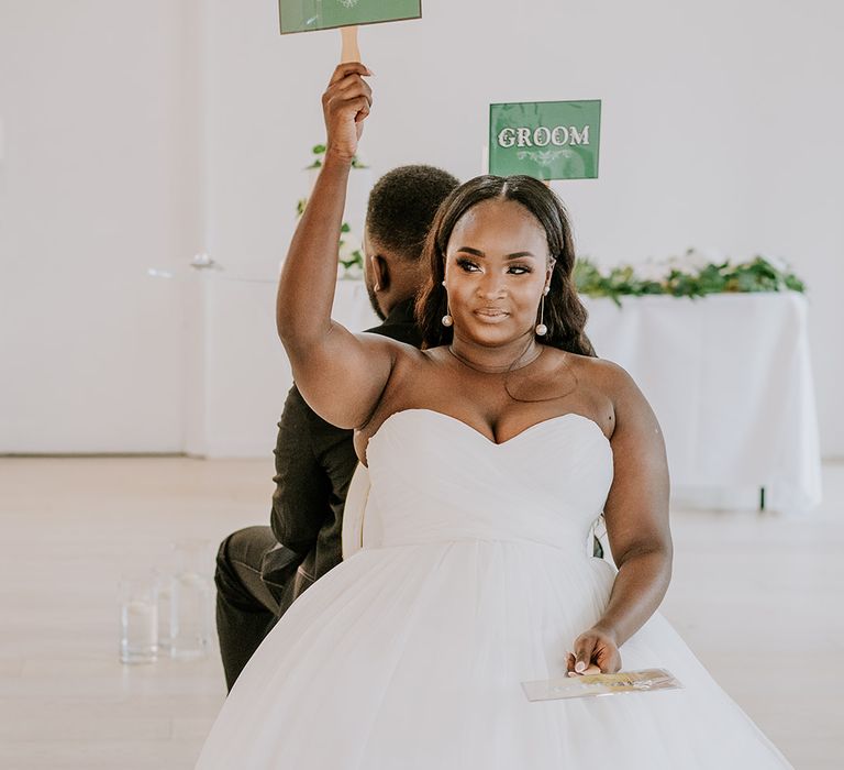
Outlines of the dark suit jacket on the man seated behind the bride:
[[[393,308],[367,331],[421,346],[413,302]],[[267,583],[281,585],[279,617],[293,600],[342,560],[343,506],[357,455],[352,430],[335,428],[311,409],[293,385],[276,442],[271,527],[279,542],[262,563]],[[271,586],[270,591],[273,591]]]

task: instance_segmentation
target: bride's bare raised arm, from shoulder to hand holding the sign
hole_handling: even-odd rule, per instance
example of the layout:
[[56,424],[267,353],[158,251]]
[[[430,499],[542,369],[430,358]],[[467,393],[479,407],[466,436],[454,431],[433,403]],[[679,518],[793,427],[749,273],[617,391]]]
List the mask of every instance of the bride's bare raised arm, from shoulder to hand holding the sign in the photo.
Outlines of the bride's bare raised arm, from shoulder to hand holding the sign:
[[276,300],[278,334],[311,408],[333,425],[366,422],[389,380],[397,343],[355,336],[331,319],[337,244],[352,158],[373,103],[359,63],[341,64],[322,97],[325,161],[290,243]]

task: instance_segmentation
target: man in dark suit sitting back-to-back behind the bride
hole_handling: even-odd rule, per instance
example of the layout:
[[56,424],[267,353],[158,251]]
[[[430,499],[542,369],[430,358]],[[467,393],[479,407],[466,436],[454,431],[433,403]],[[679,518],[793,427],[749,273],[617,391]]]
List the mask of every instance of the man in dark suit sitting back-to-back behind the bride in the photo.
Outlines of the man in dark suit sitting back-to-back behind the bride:
[[[364,282],[382,323],[369,332],[419,346],[413,299],[440,204],[459,183],[432,166],[401,166],[369,195]],[[343,506],[357,466],[352,431],[304,403],[296,385],[278,424],[270,527],[230,535],[216,557],[216,631],[229,690],[293,600],[342,560]]]

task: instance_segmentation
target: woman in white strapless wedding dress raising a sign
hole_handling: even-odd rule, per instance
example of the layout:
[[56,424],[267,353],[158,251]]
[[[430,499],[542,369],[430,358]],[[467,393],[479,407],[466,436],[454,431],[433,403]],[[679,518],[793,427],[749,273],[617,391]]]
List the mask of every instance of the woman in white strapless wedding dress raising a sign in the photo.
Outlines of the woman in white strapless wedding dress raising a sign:
[[[353,427],[382,542],[293,604],[237,680],[199,768],[785,768],[656,609],[668,586],[659,425],[597,359],[565,210],[479,177],[425,245],[418,351],[331,320],[371,91],[343,64],[327,152],[278,288],[309,404]],[[603,512],[618,571],[587,553]],[[521,682],[664,667],[681,690],[531,703]]]

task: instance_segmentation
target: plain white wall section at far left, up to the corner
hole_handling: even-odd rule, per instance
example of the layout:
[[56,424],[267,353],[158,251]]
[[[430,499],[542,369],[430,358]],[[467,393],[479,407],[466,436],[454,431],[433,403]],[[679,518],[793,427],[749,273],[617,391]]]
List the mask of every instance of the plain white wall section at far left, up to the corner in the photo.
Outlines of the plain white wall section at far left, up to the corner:
[[197,2],[1,0],[0,452],[181,451]]

